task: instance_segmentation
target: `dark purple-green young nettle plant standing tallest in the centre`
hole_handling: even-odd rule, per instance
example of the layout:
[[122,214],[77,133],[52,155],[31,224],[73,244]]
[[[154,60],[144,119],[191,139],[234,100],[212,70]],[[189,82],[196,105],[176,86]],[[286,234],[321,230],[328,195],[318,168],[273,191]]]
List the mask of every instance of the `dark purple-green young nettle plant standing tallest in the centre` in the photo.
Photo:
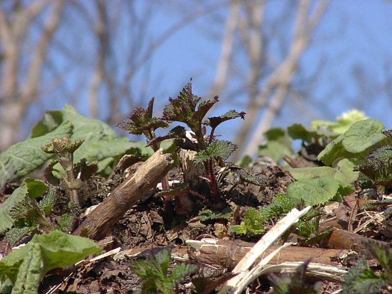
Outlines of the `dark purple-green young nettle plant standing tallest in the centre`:
[[[120,123],[119,127],[129,130],[132,134],[145,134],[148,146],[154,150],[159,148],[160,142],[167,139],[175,139],[175,144],[183,149],[196,151],[195,162],[202,163],[207,179],[213,205],[222,202],[218,183],[214,174],[214,166],[217,159],[227,159],[236,149],[236,146],[224,140],[218,140],[215,136],[216,128],[223,122],[235,118],[245,118],[245,112],[230,110],[219,117],[205,118],[207,112],[219,101],[218,96],[200,102],[201,98],[192,93],[192,80],[182,89],[177,98],[169,98],[169,104],[163,110],[162,118],[152,117],[153,99],[148,104],[147,110],[138,107],[134,110],[128,121]],[[170,123],[185,123],[189,130],[182,125],[174,126],[167,135],[155,137],[158,127],[168,127]],[[206,135],[206,129],[210,127],[210,133]],[[197,193],[193,193],[197,195]],[[201,195],[198,195],[202,197]],[[207,200],[207,204],[211,204]]]

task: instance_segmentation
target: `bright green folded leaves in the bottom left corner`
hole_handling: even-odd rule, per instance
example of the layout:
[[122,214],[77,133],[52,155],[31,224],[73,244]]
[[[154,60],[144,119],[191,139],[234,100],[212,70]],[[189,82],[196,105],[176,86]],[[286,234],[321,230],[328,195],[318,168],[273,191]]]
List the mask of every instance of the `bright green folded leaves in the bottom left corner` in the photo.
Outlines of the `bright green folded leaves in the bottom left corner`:
[[27,245],[0,260],[0,278],[12,283],[12,293],[37,293],[39,282],[49,270],[73,265],[100,252],[93,241],[57,230],[35,235]]

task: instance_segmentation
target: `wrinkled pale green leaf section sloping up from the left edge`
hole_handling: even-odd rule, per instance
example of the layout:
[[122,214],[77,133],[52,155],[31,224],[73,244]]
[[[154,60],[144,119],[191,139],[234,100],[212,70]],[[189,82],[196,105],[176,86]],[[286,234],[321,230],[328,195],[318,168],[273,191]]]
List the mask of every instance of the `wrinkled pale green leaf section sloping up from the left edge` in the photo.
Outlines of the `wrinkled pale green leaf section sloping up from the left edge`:
[[45,164],[52,154],[42,151],[41,146],[49,143],[52,138],[62,138],[71,133],[72,124],[63,122],[43,136],[27,139],[0,153],[0,190],[5,183],[18,181]]

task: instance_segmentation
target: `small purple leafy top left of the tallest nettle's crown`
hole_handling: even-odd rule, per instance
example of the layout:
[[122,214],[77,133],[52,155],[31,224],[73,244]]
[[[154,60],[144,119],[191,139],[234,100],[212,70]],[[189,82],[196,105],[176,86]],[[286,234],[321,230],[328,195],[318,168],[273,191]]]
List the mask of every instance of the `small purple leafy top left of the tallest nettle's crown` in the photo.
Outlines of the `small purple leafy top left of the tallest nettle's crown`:
[[117,126],[129,131],[130,134],[145,134],[149,140],[153,139],[152,134],[157,128],[166,128],[169,126],[169,123],[152,117],[153,105],[154,97],[148,102],[147,109],[140,106],[136,107],[128,119],[123,123],[119,123]]

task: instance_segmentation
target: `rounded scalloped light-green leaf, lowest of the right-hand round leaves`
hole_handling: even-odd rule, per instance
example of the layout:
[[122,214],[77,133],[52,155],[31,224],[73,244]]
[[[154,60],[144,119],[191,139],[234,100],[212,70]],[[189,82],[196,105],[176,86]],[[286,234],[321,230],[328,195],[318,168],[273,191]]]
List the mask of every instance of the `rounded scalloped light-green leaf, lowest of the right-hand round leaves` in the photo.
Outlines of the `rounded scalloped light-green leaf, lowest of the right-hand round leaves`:
[[305,205],[324,204],[338,192],[341,182],[329,176],[313,179],[303,179],[291,183],[287,194],[294,200],[304,200]]

